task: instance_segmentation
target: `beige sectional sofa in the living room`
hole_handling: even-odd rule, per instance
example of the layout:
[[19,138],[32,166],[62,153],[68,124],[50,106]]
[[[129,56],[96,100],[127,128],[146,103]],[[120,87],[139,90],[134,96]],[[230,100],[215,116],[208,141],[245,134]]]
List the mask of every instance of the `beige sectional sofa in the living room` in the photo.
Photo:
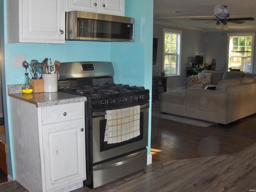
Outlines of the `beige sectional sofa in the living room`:
[[215,90],[186,88],[165,92],[162,112],[221,124],[256,113],[256,74],[235,71],[202,73],[211,73],[207,85],[216,85]]

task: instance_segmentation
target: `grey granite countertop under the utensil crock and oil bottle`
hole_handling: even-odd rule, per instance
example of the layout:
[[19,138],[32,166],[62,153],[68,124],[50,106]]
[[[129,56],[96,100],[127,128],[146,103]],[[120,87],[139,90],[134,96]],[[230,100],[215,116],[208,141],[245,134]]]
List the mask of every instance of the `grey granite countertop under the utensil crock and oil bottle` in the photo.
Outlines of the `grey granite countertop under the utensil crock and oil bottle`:
[[36,107],[46,107],[76,102],[84,102],[87,100],[85,96],[69,94],[59,91],[52,93],[22,93],[21,87],[22,84],[8,85],[8,95],[10,97],[35,104]]

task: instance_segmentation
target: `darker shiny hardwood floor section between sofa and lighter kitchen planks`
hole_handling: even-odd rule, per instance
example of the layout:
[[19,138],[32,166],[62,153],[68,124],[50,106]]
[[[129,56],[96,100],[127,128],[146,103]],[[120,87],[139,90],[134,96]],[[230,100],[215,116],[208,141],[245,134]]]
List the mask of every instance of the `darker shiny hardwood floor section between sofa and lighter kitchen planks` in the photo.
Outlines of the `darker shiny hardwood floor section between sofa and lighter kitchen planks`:
[[198,127],[160,119],[161,141],[151,144],[153,162],[225,155],[256,142],[256,115],[228,125]]

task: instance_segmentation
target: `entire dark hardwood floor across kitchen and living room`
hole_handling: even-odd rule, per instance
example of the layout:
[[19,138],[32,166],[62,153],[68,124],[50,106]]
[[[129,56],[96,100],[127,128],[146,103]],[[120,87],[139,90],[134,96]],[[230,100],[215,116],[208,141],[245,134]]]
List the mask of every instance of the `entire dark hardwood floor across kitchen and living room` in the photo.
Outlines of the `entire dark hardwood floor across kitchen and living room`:
[[[161,119],[161,141],[152,143],[151,165],[87,191],[249,191],[256,190],[256,115],[199,127]],[[212,157],[208,157],[212,156]],[[0,191],[25,192],[18,182]]]

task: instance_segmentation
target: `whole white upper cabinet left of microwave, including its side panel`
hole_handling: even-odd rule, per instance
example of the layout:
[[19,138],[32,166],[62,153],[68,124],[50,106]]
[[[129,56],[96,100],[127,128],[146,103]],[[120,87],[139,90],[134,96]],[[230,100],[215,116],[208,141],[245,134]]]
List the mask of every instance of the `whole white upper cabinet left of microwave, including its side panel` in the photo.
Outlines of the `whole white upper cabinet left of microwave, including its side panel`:
[[65,43],[63,0],[8,0],[9,43]]

